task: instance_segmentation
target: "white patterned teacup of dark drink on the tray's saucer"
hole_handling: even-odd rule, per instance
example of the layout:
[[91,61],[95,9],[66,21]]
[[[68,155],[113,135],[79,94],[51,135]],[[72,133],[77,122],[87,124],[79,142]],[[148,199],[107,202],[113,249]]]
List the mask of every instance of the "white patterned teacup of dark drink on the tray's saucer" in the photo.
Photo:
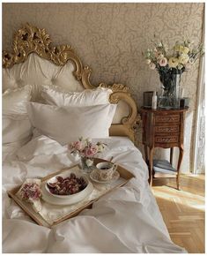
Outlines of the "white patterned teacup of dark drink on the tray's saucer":
[[115,170],[117,169],[117,164],[112,162],[100,162],[96,165],[96,172],[99,174],[99,179],[102,181],[110,180]]

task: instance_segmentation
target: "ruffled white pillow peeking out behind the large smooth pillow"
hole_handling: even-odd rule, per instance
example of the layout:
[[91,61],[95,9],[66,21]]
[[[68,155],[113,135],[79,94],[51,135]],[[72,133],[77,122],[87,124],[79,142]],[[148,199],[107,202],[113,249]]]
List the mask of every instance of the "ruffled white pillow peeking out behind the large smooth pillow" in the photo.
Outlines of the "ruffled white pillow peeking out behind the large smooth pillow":
[[93,106],[108,104],[111,89],[98,87],[95,90],[85,89],[83,92],[65,93],[57,87],[43,87],[41,96],[47,104],[59,107]]

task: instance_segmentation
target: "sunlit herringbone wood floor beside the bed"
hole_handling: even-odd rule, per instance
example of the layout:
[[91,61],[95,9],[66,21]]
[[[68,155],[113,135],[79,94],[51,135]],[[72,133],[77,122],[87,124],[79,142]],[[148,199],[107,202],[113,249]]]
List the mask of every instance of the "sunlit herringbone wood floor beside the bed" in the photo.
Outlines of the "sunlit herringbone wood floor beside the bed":
[[174,180],[155,179],[152,187],[167,230],[174,244],[204,253],[204,175],[182,175],[181,191],[174,189]]

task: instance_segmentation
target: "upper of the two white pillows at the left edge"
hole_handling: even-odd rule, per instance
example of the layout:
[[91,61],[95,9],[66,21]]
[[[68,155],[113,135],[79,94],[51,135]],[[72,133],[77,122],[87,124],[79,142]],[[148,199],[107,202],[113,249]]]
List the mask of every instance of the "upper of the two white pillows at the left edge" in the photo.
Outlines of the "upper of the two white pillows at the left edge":
[[26,102],[31,99],[32,87],[7,89],[3,94],[3,114],[26,114]]

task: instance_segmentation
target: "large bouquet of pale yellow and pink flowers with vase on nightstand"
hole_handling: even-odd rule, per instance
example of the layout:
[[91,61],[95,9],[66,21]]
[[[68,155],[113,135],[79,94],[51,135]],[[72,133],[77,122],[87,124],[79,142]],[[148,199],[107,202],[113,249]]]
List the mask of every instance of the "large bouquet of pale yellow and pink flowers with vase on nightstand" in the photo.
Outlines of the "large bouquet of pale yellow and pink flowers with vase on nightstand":
[[[203,56],[203,44],[193,47],[191,41],[176,41],[172,49],[168,49],[161,41],[147,49],[143,55],[150,69],[159,72],[163,98],[160,107],[178,108],[180,98],[181,73],[188,71],[199,56]],[[160,102],[159,102],[160,103]]]

